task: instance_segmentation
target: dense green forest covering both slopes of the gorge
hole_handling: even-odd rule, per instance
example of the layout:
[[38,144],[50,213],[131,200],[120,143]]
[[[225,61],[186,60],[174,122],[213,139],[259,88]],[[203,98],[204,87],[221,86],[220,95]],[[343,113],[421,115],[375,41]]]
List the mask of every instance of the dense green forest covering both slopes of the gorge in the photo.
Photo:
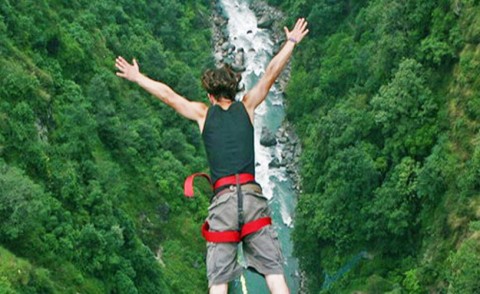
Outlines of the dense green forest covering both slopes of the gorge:
[[[286,89],[303,291],[479,293],[480,1],[267,2],[310,28]],[[0,293],[205,292],[198,127],[114,62],[207,103],[214,5],[0,2]]]

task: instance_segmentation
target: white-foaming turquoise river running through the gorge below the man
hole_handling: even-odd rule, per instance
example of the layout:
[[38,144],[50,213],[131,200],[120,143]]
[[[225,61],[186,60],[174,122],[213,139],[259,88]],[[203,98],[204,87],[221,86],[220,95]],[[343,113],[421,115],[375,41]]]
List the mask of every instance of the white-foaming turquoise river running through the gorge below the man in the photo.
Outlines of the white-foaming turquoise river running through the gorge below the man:
[[[269,30],[257,28],[257,18],[245,0],[220,0],[220,6],[228,21],[229,42],[245,52],[246,70],[242,74],[245,89],[251,89],[264,73],[273,55],[274,43]],[[244,92],[239,93],[243,97]],[[276,85],[267,99],[255,111],[255,161],[256,179],[268,197],[274,226],[279,235],[285,259],[285,277],[291,293],[298,293],[300,279],[298,261],[292,255],[293,245],[290,239],[292,218],[296,205],[296,192],[285,168],[269,168],[274,157],[281,158],[282,144],[264,147],[260,144],[263,127],[276,133],[285,117],[283,94]],[[240,258],[241,259],[241,258]],[[240,261],[242,262],[242,261]],[[240,281],[230,285],[230,293],[269,293],[265,280],[251,271],[244,271]]]

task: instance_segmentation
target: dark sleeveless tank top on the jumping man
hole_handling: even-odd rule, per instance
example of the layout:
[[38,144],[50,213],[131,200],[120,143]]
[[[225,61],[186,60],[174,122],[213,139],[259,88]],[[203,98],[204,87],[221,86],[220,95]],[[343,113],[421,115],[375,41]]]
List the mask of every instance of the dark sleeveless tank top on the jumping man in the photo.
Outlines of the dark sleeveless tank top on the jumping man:
[[255,174],[253,125],[242,102],[208,109],[202,132],[212,182],[237,173]]

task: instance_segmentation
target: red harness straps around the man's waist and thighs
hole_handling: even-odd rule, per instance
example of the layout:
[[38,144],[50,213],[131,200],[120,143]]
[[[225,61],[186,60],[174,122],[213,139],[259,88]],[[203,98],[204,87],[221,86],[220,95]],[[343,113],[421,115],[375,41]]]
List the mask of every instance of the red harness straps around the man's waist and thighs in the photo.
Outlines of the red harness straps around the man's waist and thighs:
[[[210,177],[205,173],[195,173],[193,175],[188,176],[183,186],[184,194],[186,197],[193,197],[193,180],[198,176],[206,178],[211,183]],[[242,184],[253,182],[254,180],[255,180],[255,176],[252,174],[238,174],[238,175],[232,175],[232,176],[220,178],[215,182],[215,184],[212,185],[212,187],[214,190],[217,190],[218,188],[221,188],[223,186],[227,186],[227,185],[239,186]],[[221,195],[217,197],[221,197]],[[243,213],[243,211],[239,211],[239,214],[241,213]],[[210,226],[208,222],[205,222],[202,226],[202,236],[205,238],[205,240],[207,240],[207,242],[238,243],[242,241],[242,239],[245,236],[255,233],[260,229],[262,229],[263,227],[271,224],[272,224],[272,219],[270,217],[263,217],[263,218],[259,218],[251,222],[248,222],[244,225],[241,225],[239,231],[211,232],[209,231]]]

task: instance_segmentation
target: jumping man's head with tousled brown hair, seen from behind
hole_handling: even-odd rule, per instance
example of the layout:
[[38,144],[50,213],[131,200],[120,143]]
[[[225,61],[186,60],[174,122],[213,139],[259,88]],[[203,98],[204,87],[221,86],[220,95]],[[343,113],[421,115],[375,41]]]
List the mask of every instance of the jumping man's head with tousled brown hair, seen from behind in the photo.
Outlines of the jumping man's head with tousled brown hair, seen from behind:
[[220,68],[207,69],[202,75],[202,86],[217,101],[220,98],[235,101],[240,80],[241,76],[224,64]]

